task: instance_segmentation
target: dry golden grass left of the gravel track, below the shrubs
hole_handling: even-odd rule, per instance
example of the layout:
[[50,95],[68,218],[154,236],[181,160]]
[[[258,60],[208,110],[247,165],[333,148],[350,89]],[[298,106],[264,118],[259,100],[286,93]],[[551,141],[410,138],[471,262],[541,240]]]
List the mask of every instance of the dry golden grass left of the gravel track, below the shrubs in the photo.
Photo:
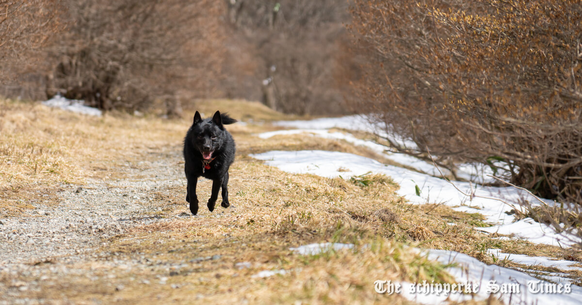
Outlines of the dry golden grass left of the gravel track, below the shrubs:
[[81,116],[3,99],[0,109],[0,216],[30,209],[31,202],[58,202],[61,184],[122,176],[111,171],[113,163],[139,159],[184,129],[151,117]]

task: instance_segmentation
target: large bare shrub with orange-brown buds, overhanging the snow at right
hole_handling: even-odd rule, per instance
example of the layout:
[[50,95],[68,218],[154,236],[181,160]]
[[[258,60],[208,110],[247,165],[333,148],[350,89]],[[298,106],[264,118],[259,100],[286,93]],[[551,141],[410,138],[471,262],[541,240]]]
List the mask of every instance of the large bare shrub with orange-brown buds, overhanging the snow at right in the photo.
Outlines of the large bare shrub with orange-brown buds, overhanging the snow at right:
[[582,203],[579,3],[357,0],[352,13],[374,46],[361,111],[441,160],[499,162],[537,195]]

